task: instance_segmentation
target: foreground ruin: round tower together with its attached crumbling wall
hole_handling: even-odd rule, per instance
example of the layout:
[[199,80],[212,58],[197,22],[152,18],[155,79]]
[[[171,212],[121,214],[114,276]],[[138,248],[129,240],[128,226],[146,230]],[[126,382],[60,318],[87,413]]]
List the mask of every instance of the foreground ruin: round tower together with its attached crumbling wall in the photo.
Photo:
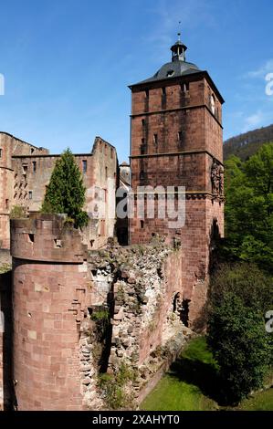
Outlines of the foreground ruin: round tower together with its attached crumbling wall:
[[154,237],[145,246],[112,241],[88,251],[57,214],[12,220],[11,229],[10,406],[107,409],[113,383],[102,385],[103,374],[124,368],[131,375],[122,389],[137,406],[191,334],[181,321],[181,249]]

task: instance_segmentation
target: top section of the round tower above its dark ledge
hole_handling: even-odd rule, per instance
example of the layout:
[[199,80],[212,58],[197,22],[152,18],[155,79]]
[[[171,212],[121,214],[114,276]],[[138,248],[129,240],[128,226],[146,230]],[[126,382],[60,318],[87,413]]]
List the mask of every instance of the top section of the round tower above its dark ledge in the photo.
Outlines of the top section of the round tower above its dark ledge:
[[66,225],[66,214],[30,214],[11,220],[11,255],[16,258],[82,264],[87,246],[79,230]]

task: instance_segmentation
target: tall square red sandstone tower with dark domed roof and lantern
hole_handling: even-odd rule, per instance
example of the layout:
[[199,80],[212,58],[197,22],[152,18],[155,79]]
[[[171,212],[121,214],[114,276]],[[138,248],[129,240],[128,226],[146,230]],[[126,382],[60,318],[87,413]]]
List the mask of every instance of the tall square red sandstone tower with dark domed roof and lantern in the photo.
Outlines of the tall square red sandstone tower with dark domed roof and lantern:
[[[130,221],[130,242],[146,243],[159,234],[181,243],[185,319],[193,322],[205,303],[213,243],[224,229],[224,99],[207,71],[185,60],[187,47],[178,36],[172,61],[130,86],[132,192],[145,206],[144,215],[135,211]],[[185,187],[183,226],[170,227],[167,216],[157,216],[159,194],[155,218],[149,218],[149,196],[139,188],[146,185],[173,186],[176,204],[179,187]]]

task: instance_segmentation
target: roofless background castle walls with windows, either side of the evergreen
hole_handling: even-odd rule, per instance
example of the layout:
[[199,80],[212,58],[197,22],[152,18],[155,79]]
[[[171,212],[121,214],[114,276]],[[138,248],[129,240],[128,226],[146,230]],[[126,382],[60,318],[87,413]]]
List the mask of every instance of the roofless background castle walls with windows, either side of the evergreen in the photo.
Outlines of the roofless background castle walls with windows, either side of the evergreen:
[[[10,246],[9,213],[13,206],[39,211],[58,157],[0,133],[0,248]],[[88,247],[98,248],[114,234],[117,153],[110,143],[96,137],[92,152],[75,155],[75,160],[87,190],[84,209],[91,217],[83,238]]]

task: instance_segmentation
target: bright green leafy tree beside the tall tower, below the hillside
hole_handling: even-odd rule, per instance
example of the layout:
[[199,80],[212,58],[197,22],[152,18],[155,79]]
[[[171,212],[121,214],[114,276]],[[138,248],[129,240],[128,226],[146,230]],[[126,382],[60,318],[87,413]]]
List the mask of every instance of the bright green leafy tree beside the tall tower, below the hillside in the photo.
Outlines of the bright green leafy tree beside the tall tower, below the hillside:
[[227,254],[273,268],[273,143],[247,162],[226,162]]

